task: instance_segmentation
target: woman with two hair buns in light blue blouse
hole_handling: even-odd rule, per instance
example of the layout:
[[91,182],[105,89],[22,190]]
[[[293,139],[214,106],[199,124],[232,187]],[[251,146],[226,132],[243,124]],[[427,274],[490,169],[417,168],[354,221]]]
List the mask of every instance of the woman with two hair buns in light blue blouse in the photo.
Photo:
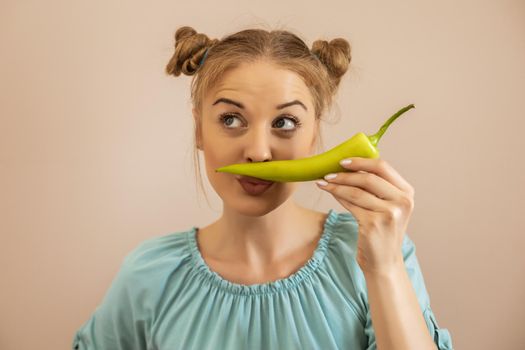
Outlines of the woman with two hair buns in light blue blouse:
[[74,349],[452,349],[405,235],[414,190],[386,161],[318,182],[342,213],[294,202],[297,183],[215,172],[313,155],[349,63],[341,38],[310,50],[286,31],[177,30],[166,71],[194,75],[196,149],[223,213],[131,252]]

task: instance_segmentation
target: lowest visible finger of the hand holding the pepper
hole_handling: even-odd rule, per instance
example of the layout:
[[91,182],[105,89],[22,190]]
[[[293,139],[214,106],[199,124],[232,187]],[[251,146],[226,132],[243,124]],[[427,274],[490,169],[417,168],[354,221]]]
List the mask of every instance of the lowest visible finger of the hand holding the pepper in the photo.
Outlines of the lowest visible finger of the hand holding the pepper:
[[325,186],[321,186],[319,182],[317,182],[317,185],[323,190],[330,192],[333,196],[344,199],[364,209],[382,212],[387,207],[386,201],[377,198],[359,187],[333,183],[326,183]]

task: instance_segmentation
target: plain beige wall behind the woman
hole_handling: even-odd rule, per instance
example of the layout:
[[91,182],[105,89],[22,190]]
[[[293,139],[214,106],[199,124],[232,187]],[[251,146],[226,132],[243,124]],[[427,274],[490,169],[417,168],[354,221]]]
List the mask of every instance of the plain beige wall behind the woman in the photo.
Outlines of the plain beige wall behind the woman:
[[[525,2],[0,2],[0,348],[67,349],[124,255],[220,213],[196,195],[173,33],[347,38],[325,149],[375,132],[415,187],[408,232],[457,349],[525,348]],[[305,205],[344,210],[313,183]]]

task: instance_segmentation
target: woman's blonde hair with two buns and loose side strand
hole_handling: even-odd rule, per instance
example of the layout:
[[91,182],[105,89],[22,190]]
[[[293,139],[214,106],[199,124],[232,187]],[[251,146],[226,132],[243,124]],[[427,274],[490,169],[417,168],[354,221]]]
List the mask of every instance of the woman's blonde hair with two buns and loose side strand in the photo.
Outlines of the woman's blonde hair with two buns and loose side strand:
[[[301,38],[287,30],[246,29],[219,40],[184,26],[175,32],[175,52],[166,65],[166,73],[176,77],[181,73],[193,76],[191,100],[201,115],[206,92],[226,71],[261,59],[288,69],[304,80],[313,98],[315,118],[320,119],[332,106],[341,77],[348,70],[351,50],[343,38],[329,42],[316,40],[309,49]],[[199,125],[200,120],[196,121],[195,128]],[[203,190],[196,140],[194,164]]]

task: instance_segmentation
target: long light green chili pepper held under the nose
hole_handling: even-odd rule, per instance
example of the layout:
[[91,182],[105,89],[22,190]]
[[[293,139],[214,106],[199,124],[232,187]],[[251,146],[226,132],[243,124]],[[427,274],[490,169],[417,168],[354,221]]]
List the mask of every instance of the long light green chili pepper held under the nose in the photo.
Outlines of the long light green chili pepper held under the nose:
[[316,156],[291,160],[232,164],[218,168],[215,171],[251,176],[275,182],[312,181],[320,179],[329,173],[343,172],[346,169],[339,164],[341,159],[350,157],[378,158],[379,150],[377,149],[377,144],[381,136],[383,136],[394,120],[411,108],[414,108],[413,104],[400,109],[381,126],[376,134],[367,136],[359,132],[338,146]]

